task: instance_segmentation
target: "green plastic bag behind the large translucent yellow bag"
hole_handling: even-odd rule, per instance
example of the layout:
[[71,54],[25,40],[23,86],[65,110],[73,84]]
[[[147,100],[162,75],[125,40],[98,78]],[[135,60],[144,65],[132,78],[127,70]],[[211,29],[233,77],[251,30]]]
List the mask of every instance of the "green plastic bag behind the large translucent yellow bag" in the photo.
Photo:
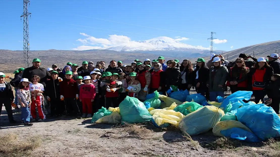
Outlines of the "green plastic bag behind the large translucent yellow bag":
[[187,102],[175,107],[173,110],[176,112],[181,112],[183,115],[188,115],[189,113],[192,113],[202,107],[202,105],[199,105],[196,102]]

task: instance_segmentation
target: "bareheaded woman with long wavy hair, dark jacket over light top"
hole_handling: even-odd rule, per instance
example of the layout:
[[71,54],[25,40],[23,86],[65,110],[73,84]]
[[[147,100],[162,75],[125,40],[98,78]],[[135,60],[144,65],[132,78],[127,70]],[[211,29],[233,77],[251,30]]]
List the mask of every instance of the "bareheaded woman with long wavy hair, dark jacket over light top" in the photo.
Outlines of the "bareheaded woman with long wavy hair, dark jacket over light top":
[[181,71],[181,77],[179,78],[178,88],[180,90],[190,91],[190,89],[192,87],[192,78],[193,78],[192,77],[192,72],[193,72],[192,63],[189,60],[184,59],[181,66],[179,67],[179,69]]

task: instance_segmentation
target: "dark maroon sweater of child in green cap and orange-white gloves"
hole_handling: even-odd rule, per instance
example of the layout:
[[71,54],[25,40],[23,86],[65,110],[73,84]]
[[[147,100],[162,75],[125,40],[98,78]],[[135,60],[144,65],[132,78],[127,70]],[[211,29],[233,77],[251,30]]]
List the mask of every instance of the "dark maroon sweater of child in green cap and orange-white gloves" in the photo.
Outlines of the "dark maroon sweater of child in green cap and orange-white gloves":
[[73,79],[63,79],[60,82],[60,95],[64,98],[76,98],[76,94],[79,94],[78,84]]

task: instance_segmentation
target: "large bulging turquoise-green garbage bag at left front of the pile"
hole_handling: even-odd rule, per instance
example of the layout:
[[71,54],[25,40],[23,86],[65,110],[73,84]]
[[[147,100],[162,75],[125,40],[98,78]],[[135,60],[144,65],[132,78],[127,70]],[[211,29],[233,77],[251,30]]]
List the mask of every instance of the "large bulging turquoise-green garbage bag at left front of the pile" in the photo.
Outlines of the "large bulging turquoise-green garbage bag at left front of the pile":
[[122,122],[127,123],[144,123],[150,122],[152,115],[149,113],[143,102],[137,98],[126,96],[120,103],[120,115]]

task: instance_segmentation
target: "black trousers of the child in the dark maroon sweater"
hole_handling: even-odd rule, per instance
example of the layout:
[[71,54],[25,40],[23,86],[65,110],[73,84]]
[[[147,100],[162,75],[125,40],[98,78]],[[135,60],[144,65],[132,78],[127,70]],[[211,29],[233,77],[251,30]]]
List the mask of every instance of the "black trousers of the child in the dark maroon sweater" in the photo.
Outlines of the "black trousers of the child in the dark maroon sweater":
[[67,115],[80,115],[80,109],[76,102],[76,98],[64,98],[64,104]]

